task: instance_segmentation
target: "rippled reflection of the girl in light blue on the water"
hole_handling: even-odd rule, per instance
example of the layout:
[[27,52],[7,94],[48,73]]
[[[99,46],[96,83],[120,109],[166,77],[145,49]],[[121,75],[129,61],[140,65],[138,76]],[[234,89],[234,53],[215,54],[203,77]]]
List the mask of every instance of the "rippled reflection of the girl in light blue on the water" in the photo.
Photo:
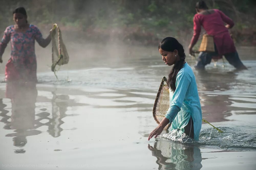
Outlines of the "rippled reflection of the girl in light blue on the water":
[[156,140],[154,146],[148,144],[152,156],[157,158],[158,169],[201,169],[201,152],[196,146]]

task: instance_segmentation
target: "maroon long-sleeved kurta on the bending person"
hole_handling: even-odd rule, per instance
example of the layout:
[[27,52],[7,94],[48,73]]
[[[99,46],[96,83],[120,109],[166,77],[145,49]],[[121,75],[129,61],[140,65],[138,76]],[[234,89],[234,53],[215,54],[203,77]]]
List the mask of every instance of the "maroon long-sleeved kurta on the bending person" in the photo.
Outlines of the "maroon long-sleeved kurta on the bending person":
[[214,37],[214,43],[220,55],[235,52],[236,48],[234,42],[229,35],[228,29],[224,25],[225,22],[232,28],[234,22],[220,10],[214,9],[214,11],[214,13],[209,15],[196,14],[194,16],[194,34],[190,44],[192,46],[196,44],[202,25],[207,34]]

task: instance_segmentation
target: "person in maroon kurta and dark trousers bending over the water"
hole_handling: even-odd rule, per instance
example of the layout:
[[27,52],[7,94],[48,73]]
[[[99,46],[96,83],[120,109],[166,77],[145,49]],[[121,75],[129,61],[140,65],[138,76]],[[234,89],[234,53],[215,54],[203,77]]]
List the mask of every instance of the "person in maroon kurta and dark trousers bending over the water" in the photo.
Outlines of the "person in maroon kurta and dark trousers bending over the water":
[[[228,29],[234,26],[234,22],[218,9],[208,9],[204,1],[196,3],[196,12],[194,16],[194,34],[189,44],[189,54],[194,55],[192,48],[196,44],[200,35],[201,26],[208,35],[213,36],[215,52],[200,52],[196,69],[205,69],[205,65],[211,62],[212,58],[222,58],[222,55],[228,62],[237,69],[247,69],[239,59],[234,42]],[[225,26],[224,23],[227,25]],[[219,56],[219,57],[218,57]]]

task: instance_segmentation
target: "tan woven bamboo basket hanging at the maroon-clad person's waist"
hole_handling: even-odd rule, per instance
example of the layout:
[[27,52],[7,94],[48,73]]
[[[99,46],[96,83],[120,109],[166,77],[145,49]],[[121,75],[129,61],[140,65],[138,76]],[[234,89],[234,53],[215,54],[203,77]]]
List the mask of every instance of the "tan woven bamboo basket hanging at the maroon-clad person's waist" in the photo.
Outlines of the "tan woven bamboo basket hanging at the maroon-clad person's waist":
[[204,34],[198,51],[214,52],[215,49],[214,49],[213,36]]

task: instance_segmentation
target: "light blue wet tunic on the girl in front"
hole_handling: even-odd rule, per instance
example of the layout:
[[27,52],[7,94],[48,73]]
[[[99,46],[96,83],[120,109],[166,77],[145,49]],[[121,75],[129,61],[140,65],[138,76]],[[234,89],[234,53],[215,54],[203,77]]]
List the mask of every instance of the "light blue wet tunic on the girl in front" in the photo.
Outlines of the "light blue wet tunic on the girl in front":
[[172,123],[171,130],[180,129],[184,132],[190,116],[194,123],[194,139],[198,141],[202,126],[202,110],[195,75],[188,63],[185,63],[177,74],[175,92],[170,90],[170,107],[165,117]]

